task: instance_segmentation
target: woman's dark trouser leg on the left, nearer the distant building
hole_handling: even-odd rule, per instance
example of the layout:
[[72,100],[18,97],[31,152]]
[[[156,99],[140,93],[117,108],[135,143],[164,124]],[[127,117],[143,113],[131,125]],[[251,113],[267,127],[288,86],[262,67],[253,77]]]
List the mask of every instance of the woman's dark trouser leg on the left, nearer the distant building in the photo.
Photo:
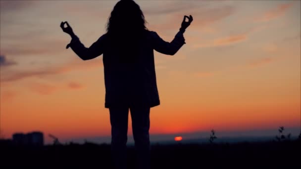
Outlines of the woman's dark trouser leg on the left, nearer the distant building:
[[109,108],[111,122],[111,153],[115,169],[126,169],[128,107]]

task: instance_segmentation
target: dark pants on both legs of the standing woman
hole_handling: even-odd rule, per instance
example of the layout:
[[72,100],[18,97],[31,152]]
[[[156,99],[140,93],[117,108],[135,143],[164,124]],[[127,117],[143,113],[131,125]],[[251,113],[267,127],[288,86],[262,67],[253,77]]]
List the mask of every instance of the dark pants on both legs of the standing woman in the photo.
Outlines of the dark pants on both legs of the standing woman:
[[150,107],[109,108],[111,123],[111,153],[115,169],[126,169],[128,114],[131,111],[138,169],[150,169]]

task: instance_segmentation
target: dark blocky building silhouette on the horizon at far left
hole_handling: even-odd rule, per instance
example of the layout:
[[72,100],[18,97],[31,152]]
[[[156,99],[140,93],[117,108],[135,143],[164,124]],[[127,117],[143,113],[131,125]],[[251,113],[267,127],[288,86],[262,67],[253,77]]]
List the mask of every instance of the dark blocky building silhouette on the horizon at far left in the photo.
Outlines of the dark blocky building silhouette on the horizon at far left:
[[35,145],[43,146],[44,145],[44,135],[43,132],[30,132],[27,134],[23,133],[14,133],[12,135],[12,142],[15,145]]

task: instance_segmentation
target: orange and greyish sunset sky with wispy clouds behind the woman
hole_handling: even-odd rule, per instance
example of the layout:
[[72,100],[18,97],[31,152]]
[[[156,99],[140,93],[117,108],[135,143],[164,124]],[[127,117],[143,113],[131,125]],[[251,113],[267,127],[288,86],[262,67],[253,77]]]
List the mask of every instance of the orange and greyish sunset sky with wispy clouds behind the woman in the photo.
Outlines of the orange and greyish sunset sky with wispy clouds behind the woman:
[[[33,130],[43,131],[46,142],[49,133],[62,142],[110,136],[102,56],[83,61],[65,49],[70,37],[59,24],[68,21],[89,47],[105,33],[116,2],[0,0],[1,136]],[[161,105],[151,108],[151,134],[173,140],[185,133],[209,136],[212,128],[217,135],[277,134],[279,126],[298,131],[300,0],[136,2],[149,30],[168,42],[184,15],[194,17],[178,53],[155,52]]]

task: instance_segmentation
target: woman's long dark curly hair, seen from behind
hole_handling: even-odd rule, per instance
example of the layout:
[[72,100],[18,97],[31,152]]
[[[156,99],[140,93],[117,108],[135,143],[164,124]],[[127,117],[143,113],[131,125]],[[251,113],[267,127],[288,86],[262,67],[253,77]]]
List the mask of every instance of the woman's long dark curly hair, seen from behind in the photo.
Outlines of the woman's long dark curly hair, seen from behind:
[[120,0],[108,19],[107,45],[121,62],[137,60],[141,40],[146,37],[146,20],[140,6],[134,0]]

